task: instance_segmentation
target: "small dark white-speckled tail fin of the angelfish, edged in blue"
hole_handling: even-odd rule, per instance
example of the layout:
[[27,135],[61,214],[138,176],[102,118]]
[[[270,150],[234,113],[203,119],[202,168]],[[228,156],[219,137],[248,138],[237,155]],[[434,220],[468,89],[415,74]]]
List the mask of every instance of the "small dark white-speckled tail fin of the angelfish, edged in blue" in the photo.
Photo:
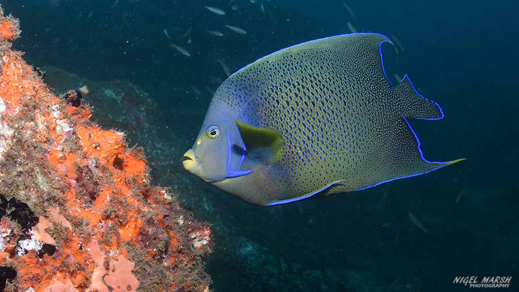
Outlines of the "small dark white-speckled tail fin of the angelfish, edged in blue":
[[422,120],[441,120],[444,117],[440,105],[420,95],[407,74],[393,90],[397,95],[400,116]]

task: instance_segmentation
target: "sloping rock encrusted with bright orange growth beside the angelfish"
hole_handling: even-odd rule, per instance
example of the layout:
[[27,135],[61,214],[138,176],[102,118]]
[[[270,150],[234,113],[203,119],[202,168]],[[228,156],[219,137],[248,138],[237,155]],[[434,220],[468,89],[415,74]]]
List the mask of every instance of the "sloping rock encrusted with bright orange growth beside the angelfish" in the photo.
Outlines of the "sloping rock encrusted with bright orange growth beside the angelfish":
[[54,95],[11,49],[18,35],[0,8],[0,266],[14,271],[5,290],[208,291],[209,225],[149,185],[124,134]]

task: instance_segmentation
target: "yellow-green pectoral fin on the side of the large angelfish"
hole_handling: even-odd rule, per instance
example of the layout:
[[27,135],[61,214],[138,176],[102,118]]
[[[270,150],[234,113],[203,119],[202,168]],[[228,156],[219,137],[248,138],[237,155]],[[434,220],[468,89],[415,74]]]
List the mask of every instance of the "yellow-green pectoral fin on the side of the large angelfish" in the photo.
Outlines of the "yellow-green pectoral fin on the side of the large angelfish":
[[254,127],[236,120],[241,139],[248,151],[263,150],[269,164],[283,156],[283,140],[277,130]]

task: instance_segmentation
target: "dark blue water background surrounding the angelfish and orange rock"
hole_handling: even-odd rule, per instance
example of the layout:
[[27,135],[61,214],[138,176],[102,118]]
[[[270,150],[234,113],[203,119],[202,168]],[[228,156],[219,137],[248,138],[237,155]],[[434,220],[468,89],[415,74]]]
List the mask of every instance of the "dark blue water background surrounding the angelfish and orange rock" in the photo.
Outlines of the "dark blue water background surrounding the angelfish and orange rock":
[[[22,20],[15,48],[46,72],[45,81],[56,92],[87,85],[93,120],[126,131],[144,147],[154,183],[171,187],[213,225],[207,270],[215,291],[470,290],[453,284],[456,276],[513,276],[510,290],[518,289],[516,2],[0,3]],[[409,74],[422,95],[442,105],[443,120],[412,121],[425,157],[467,161],[267,208],[183,169],[182,154],[229,72],[352,29],[398,39],[398,56],[387,48],[388,75]]]

